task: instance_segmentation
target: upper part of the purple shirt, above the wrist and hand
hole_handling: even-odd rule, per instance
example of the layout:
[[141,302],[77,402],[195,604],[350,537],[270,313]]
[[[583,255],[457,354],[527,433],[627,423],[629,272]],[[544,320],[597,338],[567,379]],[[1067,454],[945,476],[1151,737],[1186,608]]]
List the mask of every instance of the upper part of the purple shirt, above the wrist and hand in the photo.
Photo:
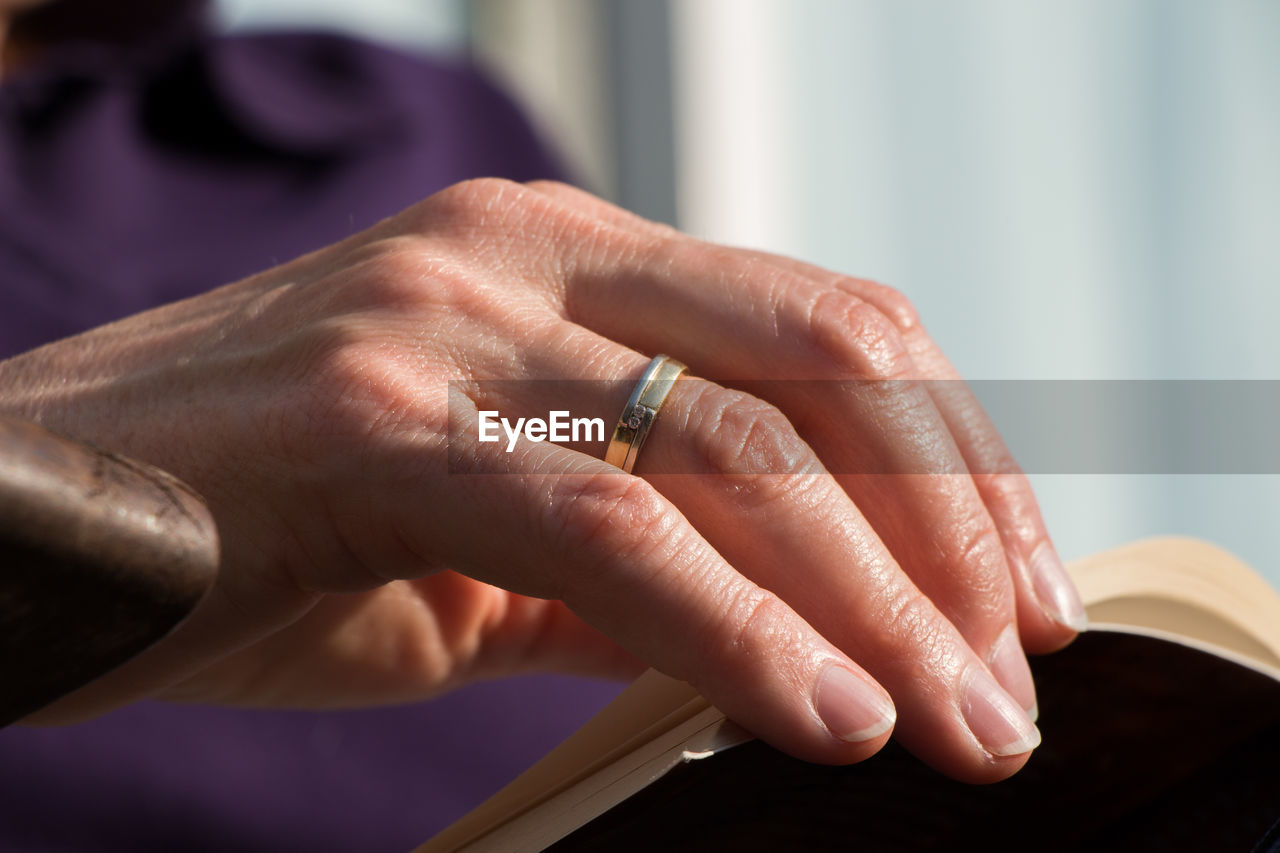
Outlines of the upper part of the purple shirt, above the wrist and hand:
[[81,44],[0,87],[0,356],[261,272],[465,178],[559,173],[465,67],[317,35]]

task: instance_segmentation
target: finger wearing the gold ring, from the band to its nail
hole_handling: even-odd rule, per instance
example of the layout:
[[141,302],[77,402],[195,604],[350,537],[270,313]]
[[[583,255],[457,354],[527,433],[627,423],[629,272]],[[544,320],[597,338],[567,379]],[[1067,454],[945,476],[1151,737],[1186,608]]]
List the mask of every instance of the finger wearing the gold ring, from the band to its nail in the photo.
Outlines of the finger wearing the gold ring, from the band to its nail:
[[[580,365],[586,375],[636,377],[646,361],[602,347],[585,330],[557,338],[554,351],[562,370]],[[521,414],[540,402],[544,410],[554,405],[616,418],[630,383],[616,384],[603,407],[591,400],[602,383],[561,383],[566,396],[554,403],[538,400],[545,383],[502,383],[500,398],[486,397],[481,406]],[[786,602],[888,689],[900,708],[897,736],[916,754],[951,775],[987,781],[1020,766],[1018,756],[1038,736],[1034,726],[901,571],[778,410],[739,391],[682,379],[637,471],[733,571]]]

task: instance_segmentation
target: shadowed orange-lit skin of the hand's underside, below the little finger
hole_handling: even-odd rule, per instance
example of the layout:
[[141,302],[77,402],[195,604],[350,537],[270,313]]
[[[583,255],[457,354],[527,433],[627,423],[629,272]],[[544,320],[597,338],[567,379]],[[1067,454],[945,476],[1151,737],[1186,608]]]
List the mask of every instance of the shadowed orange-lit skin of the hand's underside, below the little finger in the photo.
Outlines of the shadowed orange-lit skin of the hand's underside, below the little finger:
[[224,657],[197,681],[160,698],[339,708],[420,702],[516,672],[631,679],[645,669],[562,602],[511,596],[440,571],[358,596],[328,596],[288,630]]

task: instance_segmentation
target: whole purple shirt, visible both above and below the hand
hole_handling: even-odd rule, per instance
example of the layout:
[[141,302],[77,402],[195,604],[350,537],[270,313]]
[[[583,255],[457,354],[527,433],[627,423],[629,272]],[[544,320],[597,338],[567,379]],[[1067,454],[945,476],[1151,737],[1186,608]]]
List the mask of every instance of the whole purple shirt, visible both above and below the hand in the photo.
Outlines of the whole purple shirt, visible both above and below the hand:
[[[0,357],[334,242],[468,177],[561,173],[475,70],[333,36],[77,44],[0,87]],[[617,685],[420,706],[141,703],[0,730],[0,849],[403,850]]]

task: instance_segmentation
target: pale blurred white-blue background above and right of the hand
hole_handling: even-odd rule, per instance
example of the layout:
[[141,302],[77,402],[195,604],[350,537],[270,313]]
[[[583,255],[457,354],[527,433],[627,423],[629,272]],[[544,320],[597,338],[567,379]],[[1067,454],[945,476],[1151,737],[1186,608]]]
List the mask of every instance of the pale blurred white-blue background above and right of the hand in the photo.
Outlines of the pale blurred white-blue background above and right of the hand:
[[[219,8],[474,56],[589,188],[890,283],[969,378],[1280,378],[1274,0]],[[1280,585],[1280,476],[1033,479],[1068,558],[1179,533]]]

